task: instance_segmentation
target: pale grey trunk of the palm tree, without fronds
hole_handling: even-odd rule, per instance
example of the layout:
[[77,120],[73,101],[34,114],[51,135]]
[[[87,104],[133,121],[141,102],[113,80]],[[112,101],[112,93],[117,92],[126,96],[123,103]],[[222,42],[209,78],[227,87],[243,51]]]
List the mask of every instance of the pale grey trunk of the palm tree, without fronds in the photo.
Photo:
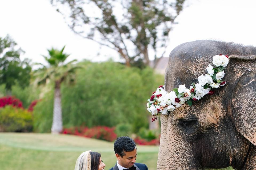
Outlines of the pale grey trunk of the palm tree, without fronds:
[[61,92],[60,92],[60,87],[56,82],[55,90],[54,90],[53,125],[51,127],[51,133],[59,134],[61,131],[62,131]]

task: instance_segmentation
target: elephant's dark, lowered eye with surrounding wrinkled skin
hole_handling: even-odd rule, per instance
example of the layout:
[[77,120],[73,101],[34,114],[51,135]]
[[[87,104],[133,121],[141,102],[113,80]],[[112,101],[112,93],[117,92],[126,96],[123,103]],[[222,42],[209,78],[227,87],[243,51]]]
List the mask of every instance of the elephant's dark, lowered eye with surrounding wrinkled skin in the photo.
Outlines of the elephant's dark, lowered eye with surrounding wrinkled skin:
[[190,117],[180,119],[179,125],[187,134],[193,134],[197,131],[199,123],[197,117],[191,115]]

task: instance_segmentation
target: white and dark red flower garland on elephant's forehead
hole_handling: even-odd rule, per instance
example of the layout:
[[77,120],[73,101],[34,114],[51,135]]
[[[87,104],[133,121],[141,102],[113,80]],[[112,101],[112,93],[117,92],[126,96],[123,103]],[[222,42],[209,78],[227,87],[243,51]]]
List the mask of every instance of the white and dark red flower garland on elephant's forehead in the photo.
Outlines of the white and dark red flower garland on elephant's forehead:
[[202,99],[206,94],[213,95],[213,88],[218,88],[226,84],[222,81],[224,77],[224,69],[229,63],[228,55],[222,54],[213,56],[213,65],[207,67],[207,73],[198,77],[198,83],[192,83],[190,88],[186,88],[185,84],[179,85],[173,91],[167,93],[164,86],[159,86],[153,95],[148,99],[147,110],[153,115],[152,122],[157,120],[158,114],[169,114],[182,104],[192,105],[192,101]]

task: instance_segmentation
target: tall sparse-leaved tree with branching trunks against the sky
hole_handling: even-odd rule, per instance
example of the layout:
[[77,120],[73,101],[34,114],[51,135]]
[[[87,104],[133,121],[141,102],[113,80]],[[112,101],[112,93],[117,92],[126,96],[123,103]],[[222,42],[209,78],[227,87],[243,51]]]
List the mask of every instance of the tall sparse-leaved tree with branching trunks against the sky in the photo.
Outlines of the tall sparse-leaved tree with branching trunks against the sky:
[[[116,50],[127,66],[163,57],[185,0],[51,0],[78,35]],[[64,14],[69,7],[69,14]],[[63,8],[62,8],[63,7]],[[65,8],[64,8],[65,7]],[[65,10],[64,10],[65,9]]]

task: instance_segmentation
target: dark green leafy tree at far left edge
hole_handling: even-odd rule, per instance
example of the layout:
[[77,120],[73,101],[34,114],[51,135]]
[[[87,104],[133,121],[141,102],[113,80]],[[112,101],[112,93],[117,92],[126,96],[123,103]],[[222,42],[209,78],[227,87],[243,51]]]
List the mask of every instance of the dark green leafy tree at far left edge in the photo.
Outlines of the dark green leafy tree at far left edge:
[[11,90],[14,84],[25,88],[30,82],[31,67],[30,60],[25,58],[23,61],[20,55],[24,51],[9,35],[5,38],[0,37],[0,84],[5,84],[7,91]]

